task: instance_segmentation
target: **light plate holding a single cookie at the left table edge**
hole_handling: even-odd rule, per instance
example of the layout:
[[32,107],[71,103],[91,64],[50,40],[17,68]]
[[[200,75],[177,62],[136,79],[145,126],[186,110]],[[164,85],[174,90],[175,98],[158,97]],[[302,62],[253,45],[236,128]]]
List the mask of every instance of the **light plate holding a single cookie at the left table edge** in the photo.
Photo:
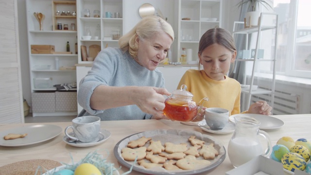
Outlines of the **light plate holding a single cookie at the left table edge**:
[[[0,132],[0,146],[26,146],[53,139],[62,132],[62,128],[52,124],[26,125],[11,128]],[[3,137],[10,133],[28,135],[24,138],[4,140]]]

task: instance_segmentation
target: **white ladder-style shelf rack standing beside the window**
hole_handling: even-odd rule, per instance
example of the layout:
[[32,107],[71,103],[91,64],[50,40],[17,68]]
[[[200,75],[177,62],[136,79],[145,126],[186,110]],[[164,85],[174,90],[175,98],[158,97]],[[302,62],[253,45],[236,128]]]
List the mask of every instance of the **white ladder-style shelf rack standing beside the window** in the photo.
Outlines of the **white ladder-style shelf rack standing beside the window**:
[[[245,47],[242,51],[238,51],[236,61],[242,61],[246,63],[246,68],[250,68],[250,75],[245,69],[244,80],[242,87],[242,95],[245,94],[246,105],[243,107],[243,110],[247,110],[249,105],[251,104],[251,97],[254,95],[266,94],[270,96],[269,105],[273,107],[274,105],[274,96],[275,96],[275,82],[276,82],[276,46],[277,46],[277,15],[271,13],[261,13],[259,18],[259,25],[253,26],[249,28],[239,29],[239,26],[243,24],[242,22],[234,22],[234,31],[233,36],[245,36]],[[243,24],[244,25],[244,24]],[[255,42],[255,47],[252,44],[248,44],[249,36],[256,34],[257,39]],[[235,39],[237,38],[235,37]],[[271,50],[263,50],[263,42],[264,38],[272,37],[274,38],[274,42],[270,43],[269,49]],[[248,65],[247,63],[252,63],[252,65]],[[255,78],[260,77],[259,67],[266,66],[271,67],[271,84],[269,84],[268,88],[258,88],[259,80],[255,80]],[[258,100],[260,97],[258,96]]]

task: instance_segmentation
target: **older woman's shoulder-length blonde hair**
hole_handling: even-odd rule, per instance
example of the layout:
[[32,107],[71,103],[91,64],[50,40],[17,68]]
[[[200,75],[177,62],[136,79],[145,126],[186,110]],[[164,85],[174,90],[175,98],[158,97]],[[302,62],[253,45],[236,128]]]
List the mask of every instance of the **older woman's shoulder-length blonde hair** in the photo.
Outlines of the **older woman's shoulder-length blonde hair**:
[[119,46],[123,52],[129,51],[130,55],[137,57],[138,45],[135,36],[139,39],[146,39],[155,36],[158,32],[165,32],[174,40],[174,31],[168,22],[157,16],[147,16],[142,18],[135,27],[119,39]]

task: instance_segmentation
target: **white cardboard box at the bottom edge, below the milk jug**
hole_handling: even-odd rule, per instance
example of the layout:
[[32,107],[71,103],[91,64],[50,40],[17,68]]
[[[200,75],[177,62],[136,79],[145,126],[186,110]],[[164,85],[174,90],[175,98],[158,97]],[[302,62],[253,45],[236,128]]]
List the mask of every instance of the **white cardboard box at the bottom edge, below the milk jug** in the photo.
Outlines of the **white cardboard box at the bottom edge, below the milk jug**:
[[[238,168],[226,172],[225,175],[254,175],[258,172],[263,172],[268,175],[291,175],[284,172],[283,166],[280,162],[264,156],[255,157]],[[295,171],[294,175],[309,174],[302,171]]]

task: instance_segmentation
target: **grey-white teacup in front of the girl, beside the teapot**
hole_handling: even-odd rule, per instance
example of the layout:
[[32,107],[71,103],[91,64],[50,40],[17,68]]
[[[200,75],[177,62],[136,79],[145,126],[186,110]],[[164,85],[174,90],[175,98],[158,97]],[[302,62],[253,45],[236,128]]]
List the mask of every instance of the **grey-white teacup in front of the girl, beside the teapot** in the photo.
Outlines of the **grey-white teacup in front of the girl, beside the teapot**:
[[229,111],[220,107],[209,107],[205,109],[205,121],[211,130],[224,129],[229,122]]

